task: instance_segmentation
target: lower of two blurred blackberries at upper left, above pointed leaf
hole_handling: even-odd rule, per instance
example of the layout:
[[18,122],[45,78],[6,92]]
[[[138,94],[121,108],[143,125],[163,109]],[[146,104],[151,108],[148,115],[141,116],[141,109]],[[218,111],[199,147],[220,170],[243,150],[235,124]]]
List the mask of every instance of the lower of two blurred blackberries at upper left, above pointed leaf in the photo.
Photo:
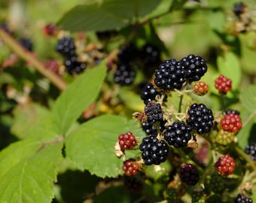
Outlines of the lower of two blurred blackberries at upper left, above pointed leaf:
[[85,62],[78,62],[76,57],[66,59],[64,65],[66,67],[66,71],[68,71],[69,74],[80,74],[87,67]]

